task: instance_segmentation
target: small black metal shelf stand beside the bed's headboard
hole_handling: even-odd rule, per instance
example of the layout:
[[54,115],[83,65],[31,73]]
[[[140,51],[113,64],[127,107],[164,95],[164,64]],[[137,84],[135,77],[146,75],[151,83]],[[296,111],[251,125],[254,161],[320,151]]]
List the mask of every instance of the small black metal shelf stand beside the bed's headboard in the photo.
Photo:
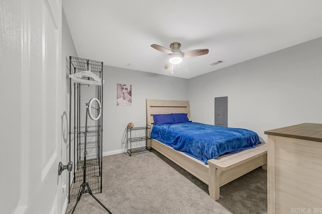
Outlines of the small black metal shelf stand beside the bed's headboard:
[[[141,153],[146,151],[151,152],[151,138],[148,137],[151,131],[151,126],[146,125],[145,127],[135,127],[135,128],[126,128],[126,129],[127,129],[126,150],[130,156],[132,156],[133,153]],[[145,135],[139,136],[139,137],[132,137],[132,132],[138,131],[138,130],[145,130]],[[132,143],[138,142],[138,141],[145,141],[145,146],[132,148]]]

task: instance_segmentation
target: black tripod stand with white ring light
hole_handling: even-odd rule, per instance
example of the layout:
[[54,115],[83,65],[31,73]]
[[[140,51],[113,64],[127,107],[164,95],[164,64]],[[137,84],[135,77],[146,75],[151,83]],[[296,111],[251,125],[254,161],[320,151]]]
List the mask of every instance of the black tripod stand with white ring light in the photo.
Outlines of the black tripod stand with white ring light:
[[[98,101],[98,100],[97,100]],[[91,102],[91,101],[90,101]],[[99,101],[98,101],[99,103]],[[101,109],[98,109],[98,111],[101,111]],[[77,203],[79,202],[79,200],[81,200],[81,197],[84,193],[89,193],[90,195],[92,195],[92,197],[94,197],[94,199],[99,202],[99,204],[101,204],[103,206],[104,209],[106,209],[106,211],[108,211],[110,214],[112,214],[112,212],[106,208],[106,206],[99,200],[97,199],[94,194],[92,193],[92,190],[90,188],[90,185],[88,182],[86,182],[86,154],[87,154],[87,151],[86,151],[86,142],[87,142],[87,118],[88,118],[88,115],[89,115],[89,103],[86,103],[86,120],[85,120],[85,149],[84,149],[84,166],[83,166],[83,183],[81,184],[81,186],[79,187],[79,191],[78,191],[78,195],[77,195],[77,201],[76,201],[76,204],[74,206],[74,208],[72,209],[72,212],[71,213],[74,213],[75,211],[75,208],[77,206]],[[100,117],[100,113],[98,114],[99,116],[97,117],[97,119]]]

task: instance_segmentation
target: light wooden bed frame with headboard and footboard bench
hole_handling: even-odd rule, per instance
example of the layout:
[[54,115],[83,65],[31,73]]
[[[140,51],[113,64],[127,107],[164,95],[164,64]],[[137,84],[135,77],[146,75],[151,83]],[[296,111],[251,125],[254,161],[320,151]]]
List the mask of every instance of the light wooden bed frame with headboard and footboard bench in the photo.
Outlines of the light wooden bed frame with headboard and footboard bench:
[[[153,126],[153,115],[186,113],[190,117],[189,101],[146,99],[146,124]],[[151,147],[206,183],[213,200],[219,199],[219,187],[262,166],[267,170],[267,144],[235,154],[223,155],[208,160],[208,165],[183,152],[158,142],[151,141]]]

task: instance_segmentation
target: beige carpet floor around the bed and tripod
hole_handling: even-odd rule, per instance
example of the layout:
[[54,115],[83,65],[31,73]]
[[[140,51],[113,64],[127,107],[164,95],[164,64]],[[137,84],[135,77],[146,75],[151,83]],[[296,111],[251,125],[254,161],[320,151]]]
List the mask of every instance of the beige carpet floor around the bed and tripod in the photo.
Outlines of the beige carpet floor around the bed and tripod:
[[[267,171],[255,169],[220,187],[213,201],[208,185],[155,151],[117,154],[103,157],[103,190],[95,196],[112,213],[267,213]],[[86,193],[74,213],[107,211]]]

